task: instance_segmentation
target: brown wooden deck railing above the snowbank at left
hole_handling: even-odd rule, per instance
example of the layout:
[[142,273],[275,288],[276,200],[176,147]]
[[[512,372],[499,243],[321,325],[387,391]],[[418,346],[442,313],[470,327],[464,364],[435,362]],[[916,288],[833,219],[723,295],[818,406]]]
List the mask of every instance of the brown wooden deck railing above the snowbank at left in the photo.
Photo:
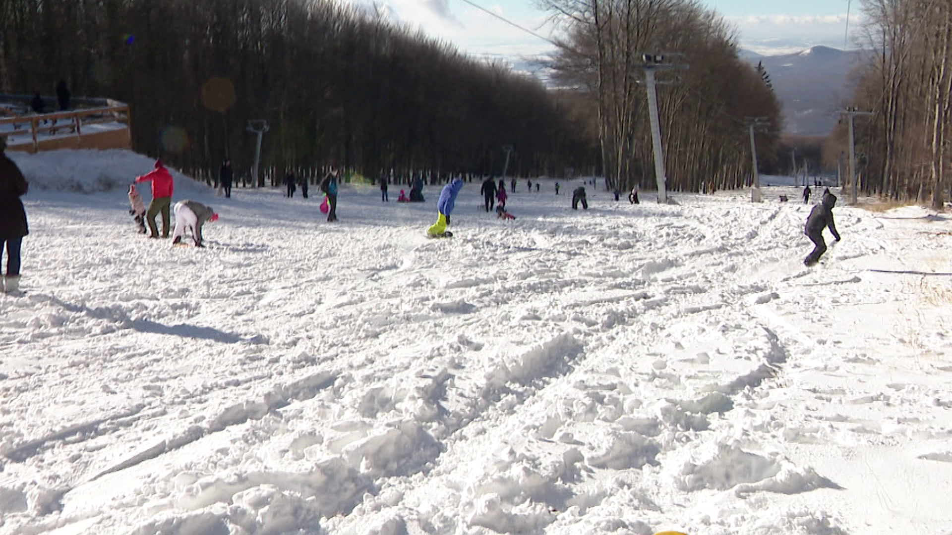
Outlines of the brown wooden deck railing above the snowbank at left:
[[[99,101],[103,102],[103,101]],[[105,101],[106,106],[51,113],[16,114],[0,101],[0,136],[8,149],[36,152],[50,149],[128,149],[131,147],[129,106]],[[113,129],[94,125],[118,124]]]

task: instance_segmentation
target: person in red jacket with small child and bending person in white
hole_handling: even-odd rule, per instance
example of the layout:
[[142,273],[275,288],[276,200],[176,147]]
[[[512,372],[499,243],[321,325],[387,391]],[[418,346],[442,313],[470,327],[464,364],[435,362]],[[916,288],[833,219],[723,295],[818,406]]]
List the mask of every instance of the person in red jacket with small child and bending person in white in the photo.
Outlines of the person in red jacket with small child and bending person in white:
[[[152,200],[149,208],[143,206],[136,184],[152,183]],[[129,185],[129,212],[135,217],[141,233],[146,232],[145,224],[149,224],[149,238],[158,238],[159,229],[155,217],[162,214],[162,238],[169,238],[169,208],[171,207],[172,192],[175,189],[175,180],[162,160],[155,160],[153,169],[142,176],[137,176],[133,184]],[[218,214],[206,205],[197,201],[184,200],[175,203],[175,230],[172,233],[172,245],[182,243],[186,231],[190,229],[195,247],[204,248],[202,226],[208,222],[218,221]],[[145,221],[143,221],[145,220]]]

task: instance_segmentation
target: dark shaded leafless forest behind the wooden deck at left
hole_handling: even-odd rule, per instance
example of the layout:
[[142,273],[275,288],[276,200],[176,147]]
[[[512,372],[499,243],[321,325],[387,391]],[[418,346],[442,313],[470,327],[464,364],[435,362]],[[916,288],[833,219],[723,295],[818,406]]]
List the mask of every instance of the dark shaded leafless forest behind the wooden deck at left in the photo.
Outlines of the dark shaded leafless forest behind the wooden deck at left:
[[0,88],[129,103],[133,148],[184,169],[558,176],[599,163],[578,99],[372,12],[310,0],[4,0]]

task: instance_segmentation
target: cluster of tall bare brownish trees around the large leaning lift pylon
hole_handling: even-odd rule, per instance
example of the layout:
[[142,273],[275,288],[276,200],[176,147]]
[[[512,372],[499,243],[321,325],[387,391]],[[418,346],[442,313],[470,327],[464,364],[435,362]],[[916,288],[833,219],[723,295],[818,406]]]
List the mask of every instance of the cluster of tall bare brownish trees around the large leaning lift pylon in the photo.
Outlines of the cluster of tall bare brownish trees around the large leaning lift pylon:
[[[645,54],[668,54],[659,70],[667,188],[698,191],[749,184],[750,119],[763,167],[776,166],[780,104],[763,72],[738,56],[733,30],[695,0],[542,0],[564,25],[552,62],[560,83],[587,95],[597,112],[605,176],[619,188],[654,180]],[[673,52],[673,54],[672,54]],[[759,166],[760,167],[760,166]]]

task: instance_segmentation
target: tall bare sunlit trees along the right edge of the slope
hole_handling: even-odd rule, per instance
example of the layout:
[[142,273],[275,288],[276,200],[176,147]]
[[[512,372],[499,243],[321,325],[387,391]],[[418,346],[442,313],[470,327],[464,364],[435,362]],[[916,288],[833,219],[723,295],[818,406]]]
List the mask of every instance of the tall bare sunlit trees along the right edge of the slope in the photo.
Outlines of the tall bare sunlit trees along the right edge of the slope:
[[[952,3],[863,0],[863,10],[863,45],[875,53],[852,99],[873,113],[856,119],[859,185],[942,208],[952,164]],[[833,132],[827,160],[847,149],[845,129]]]

